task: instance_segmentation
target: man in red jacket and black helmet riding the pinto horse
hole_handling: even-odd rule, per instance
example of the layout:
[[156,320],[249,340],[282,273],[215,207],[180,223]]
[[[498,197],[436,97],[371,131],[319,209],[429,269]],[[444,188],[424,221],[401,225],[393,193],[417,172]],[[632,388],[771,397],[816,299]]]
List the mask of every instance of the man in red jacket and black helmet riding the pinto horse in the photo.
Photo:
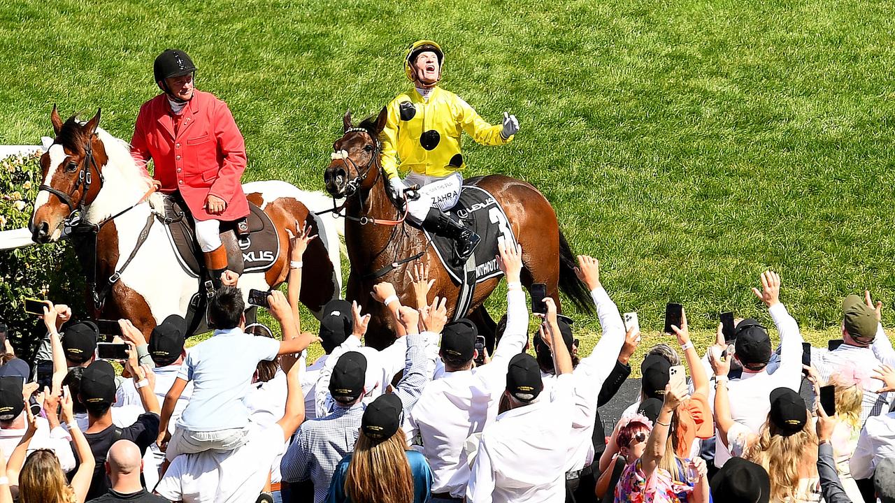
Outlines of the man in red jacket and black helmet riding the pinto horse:
[[226,103],[196,90],[196,67],[189,55],[166,49],[153,65],[164,91],[140,108],[131,140],[131,155],[144,170],[151,158],[161,192],[180,192],[196,222],[196,240],[214,285],[226,269],[220,223],[249,214],[240,178],[245,170],[245,142]]

